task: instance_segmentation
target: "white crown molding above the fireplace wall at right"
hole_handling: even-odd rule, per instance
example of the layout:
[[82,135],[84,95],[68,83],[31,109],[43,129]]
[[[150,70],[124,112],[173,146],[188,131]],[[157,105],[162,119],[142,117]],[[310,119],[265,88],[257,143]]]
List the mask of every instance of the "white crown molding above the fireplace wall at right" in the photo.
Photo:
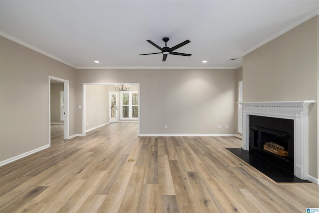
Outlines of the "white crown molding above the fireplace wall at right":
[[311,11],[308,15],[304,16],[303,18],[299,19],[298,21],[290,24],[289,26],[285,27],[284,29],[282,29],[281,31],[279,31],[278,33],[276,33],[275,35],[269,37],[268,39],[262,41],[261,43],[257,44],[255,47],[249,49],[248,51],[240,54],[240,56],[245,56],[247,55],[248,53],[254,51],[255,49],[263,46],[264,44],[270,42],[271,40],[274,40],[275,38],[281,36],[282,34],[288,32],[289,30],[295,28],[296,26],[304,23],[305,21],[311,19],[312,17],[316,16],[316,15],[319,15],[319,7],[314,9],[313,11]]

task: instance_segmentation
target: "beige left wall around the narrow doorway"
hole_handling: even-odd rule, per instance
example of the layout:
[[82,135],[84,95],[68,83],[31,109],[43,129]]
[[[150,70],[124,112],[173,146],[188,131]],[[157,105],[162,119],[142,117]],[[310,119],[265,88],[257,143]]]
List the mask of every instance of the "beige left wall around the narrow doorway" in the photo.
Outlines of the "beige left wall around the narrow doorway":
[[48,144],[48,76],[69,80],[75,134],[75,69],[0,36],[0,162]]

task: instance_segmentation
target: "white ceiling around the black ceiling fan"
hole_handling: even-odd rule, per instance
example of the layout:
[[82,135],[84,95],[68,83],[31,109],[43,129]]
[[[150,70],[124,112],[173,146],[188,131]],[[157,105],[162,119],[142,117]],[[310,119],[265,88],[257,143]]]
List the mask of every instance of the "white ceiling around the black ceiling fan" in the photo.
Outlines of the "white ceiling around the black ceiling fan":
[[[318,7],[319,0],[0,0],[0,35],[74,68],[237,68]],[[163,37],[168,47],[190,40],[175,51],[192,56],[139,55],[159,52],[146,40],[163,47]]]

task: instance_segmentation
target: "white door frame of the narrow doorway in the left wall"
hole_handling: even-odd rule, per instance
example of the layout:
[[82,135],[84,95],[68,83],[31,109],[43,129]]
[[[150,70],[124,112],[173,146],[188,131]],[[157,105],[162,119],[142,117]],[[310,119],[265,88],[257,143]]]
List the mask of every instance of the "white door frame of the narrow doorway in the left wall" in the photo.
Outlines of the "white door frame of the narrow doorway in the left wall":
[[57,78],[54,76],[49,76],[49,138],[48,138],[48,144],[51,146],[51,80],[56,80],[63,83],[63,90],[64,90],[64,134],[63,139],[67,140],[69,139],[69,81],[61,78]]

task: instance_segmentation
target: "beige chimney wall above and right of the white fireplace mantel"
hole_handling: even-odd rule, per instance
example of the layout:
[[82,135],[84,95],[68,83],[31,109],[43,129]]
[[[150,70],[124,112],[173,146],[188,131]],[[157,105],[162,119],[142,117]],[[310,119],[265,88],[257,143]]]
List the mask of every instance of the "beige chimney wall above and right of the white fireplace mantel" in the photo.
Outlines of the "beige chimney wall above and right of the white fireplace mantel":
[[[243,57],[243,101],[318,101],[318,16]],[[310,106],[309,174],[318,177],[318,104]]]

